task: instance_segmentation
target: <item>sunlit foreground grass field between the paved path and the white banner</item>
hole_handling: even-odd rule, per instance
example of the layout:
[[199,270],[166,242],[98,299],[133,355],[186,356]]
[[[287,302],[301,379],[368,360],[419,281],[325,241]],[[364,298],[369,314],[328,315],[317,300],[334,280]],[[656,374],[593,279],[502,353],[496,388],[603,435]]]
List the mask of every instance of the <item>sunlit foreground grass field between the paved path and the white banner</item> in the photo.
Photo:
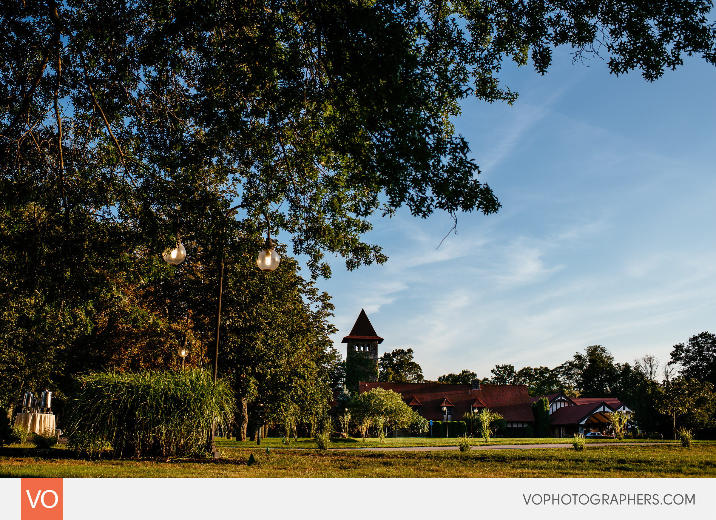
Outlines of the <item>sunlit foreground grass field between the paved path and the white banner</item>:
[[[280,442],[280,440],[279,440]],[[263,441],[262,441],[263,443]],[[9,450],[14,449],[14,452]],[[56,448],[44,458],[32,450],[0,448],[4,477],[716,477],[716,443],[687,450],[607,446],[500,451],[299,451],[222,448],[220,461],[86,461]],[[265,450],[265,446],[263,448]],[[20,456],[13,456],[22,452]],[[253,453],[257,463],[247,466]],[[38,453],[40,455],[40,453]]]

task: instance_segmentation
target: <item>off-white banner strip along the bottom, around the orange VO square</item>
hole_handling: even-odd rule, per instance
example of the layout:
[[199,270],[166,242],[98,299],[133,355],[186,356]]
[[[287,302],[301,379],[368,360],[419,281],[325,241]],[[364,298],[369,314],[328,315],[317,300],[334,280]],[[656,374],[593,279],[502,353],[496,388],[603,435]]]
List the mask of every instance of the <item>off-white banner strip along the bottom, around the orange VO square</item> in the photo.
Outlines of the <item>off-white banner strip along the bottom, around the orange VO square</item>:
[[[713,518],[713,478],[65,478],[64,519]],[[0,480],[20,519],[20,479]],[[479,511],[479,514],[478,514]]]

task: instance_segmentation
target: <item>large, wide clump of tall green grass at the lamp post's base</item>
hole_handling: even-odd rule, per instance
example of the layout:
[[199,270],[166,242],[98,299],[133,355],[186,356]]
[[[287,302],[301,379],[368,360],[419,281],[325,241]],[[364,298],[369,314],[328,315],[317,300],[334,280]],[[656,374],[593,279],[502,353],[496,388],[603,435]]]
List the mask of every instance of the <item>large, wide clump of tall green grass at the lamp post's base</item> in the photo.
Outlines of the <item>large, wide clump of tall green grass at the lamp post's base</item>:
[[213,422],[228,430],[231,387],[205,370],[88,372],[74,376],[67,410],[70,446],[115,456],[189,456],[205,450]]

